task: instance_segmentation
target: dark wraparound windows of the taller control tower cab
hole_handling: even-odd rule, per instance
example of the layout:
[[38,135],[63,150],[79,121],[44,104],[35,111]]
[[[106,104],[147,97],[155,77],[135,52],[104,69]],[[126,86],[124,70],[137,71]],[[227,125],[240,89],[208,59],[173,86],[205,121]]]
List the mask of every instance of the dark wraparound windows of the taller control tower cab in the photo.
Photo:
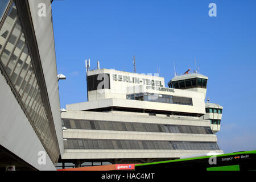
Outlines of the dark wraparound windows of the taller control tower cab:
[[207,88],[207,79],[191,78],[187,80],[172,81],[169,84],[169,87],[175,89]]

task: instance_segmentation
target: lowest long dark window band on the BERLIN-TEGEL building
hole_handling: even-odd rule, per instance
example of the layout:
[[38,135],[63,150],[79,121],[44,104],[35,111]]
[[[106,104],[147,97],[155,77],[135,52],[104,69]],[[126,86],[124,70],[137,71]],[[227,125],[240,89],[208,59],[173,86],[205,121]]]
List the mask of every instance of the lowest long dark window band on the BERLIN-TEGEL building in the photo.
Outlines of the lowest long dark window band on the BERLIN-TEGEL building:
[[65,149],[124,150],[220,150],[216,142],[175,142],[153,140],[67,139]]

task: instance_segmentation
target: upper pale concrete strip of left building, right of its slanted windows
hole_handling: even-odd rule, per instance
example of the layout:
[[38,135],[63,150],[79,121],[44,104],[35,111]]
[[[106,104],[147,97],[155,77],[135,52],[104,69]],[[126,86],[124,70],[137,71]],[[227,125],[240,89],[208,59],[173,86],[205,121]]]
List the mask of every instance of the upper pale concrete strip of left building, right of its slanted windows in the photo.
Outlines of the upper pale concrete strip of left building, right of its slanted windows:
[[52,116],[56,135],[59,143],[60,155],[63,155],[63,135],[60,118],[60,96],[57,80],[57,65],[55,55],[55,41],[53,35],[51,1],[45,1],[46,16],[38,16],[38,5],[40,0],[29,0],[31,18],[34,25],[35,36],[38,43],[40,60],[42,63],[44,81],[47,85],[47,93],[52,109]]

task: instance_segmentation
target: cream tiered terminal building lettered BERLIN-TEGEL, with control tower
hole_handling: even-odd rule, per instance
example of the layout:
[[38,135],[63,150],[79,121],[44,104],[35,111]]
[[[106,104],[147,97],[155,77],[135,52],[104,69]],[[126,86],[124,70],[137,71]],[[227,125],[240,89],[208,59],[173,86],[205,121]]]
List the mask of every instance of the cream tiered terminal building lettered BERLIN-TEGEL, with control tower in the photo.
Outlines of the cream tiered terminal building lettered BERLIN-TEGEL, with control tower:
[[[146,163],[222,153],[215,123],[205,118],[208,77],[163,77],[94,69],[87,72],[88,102],[61,113],[64,154],[59,162]],[[209,105],[209,104],[208,104]],[[221,114],[214,118],[221,119]],[[217,124],[217,123],[216,123]],[[219,123],[220,124],[220,123]]]

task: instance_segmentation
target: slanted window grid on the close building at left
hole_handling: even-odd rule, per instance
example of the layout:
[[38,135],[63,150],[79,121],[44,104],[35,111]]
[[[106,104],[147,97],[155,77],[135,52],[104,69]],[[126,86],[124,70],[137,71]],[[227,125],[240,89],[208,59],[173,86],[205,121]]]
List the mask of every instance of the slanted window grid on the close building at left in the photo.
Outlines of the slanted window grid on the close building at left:
[[39,80],[36,78],[27,45],[18,11],[13,3],[0,30],[0,64],[10,78],[10,84],[14,86],[15,93],[19,94],[17,98],[20,98],[26,113],[34,122],[49,156],[57,160],[59,156],[57,138],[50,130],[49,118],[39,89]]

